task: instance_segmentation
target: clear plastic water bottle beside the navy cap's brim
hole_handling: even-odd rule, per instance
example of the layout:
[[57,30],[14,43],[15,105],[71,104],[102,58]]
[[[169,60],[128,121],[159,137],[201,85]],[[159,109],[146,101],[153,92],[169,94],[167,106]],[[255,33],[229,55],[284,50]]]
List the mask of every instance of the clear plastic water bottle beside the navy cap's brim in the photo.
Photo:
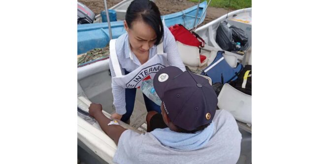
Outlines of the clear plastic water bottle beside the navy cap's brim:
[[142,85],[140,86],[140,89],[146,95],[146,97],[152,100],[155,104],[157,104],[158,106],[161,105],[161,100],[153,87],[152,79],[143,81]]

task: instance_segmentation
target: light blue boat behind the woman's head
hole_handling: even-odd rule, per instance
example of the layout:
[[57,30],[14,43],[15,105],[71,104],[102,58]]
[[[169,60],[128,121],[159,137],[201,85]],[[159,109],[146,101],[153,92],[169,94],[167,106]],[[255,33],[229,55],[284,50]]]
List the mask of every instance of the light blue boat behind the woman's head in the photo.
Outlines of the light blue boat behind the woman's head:
[[[120,3],[119,3],[120,4]],[[125,6],[124,3],[118,7]],[[170,27],[175,24],[182,24],[188,29],[197,27],[201,24],[205,18],[207,1],[203,1],[199,4],[198,11],[197,5],[185,9],[183,11],[172,13],[168,15],[161,16],[161,19],[165,21],[165,26]],[[124,8],[124,7],[123,7]],[[119,10],[119,9],[118,9]],[[124,13],[124,12],[122,12]],[[118,13],[119,14],[119,13]],[[195,18],[197,15],[198,24],[195,24]],[[126,32],[123,21],[110,22],[112,38],[118,38],[120,35]],[[95,48],[103,48],[109,43],[109,31],[108,24],[105,23],[95,23],[95,24],[83,24],[78,25],[78,49],[77,55],[86,53]]]

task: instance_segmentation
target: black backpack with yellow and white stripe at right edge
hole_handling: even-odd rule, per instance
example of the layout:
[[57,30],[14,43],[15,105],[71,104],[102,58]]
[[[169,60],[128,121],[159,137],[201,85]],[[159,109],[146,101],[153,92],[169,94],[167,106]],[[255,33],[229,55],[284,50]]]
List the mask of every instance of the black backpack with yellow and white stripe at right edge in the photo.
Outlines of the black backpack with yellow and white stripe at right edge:
[[229,83],[235,89],[251,95],[251,65],[246,65],[239,73],[237,80]]

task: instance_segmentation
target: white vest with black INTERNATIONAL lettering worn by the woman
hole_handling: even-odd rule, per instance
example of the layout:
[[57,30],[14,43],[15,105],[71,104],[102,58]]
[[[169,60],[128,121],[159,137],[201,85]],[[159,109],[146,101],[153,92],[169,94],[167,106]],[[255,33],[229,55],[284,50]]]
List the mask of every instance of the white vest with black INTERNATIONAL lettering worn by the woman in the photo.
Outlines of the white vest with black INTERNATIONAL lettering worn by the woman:
[[115,81],[123,88],[138,88],[146,77],[150,76],[150,78],[153,79],[160,69],[169,66],[167,54],[164,53],[164,45],[161,43],[157,46],[157,55],[154,55],[128,75],[122,75],[117,52],[115,50],[115,42],[116,39],[110,40],[110,58],[116,75],[116,77],[112,78],[112,81]]

